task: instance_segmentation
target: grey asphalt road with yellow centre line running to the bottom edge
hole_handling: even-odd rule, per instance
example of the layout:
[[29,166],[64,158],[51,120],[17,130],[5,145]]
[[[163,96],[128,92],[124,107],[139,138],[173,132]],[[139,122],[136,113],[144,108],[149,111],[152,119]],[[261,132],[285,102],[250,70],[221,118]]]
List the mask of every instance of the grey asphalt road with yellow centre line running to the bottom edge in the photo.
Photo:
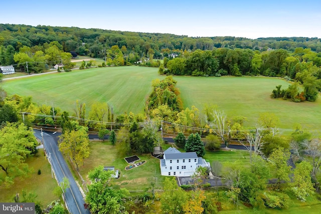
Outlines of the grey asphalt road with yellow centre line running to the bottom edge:
[[[34,135],[42,139],[41,131],[34,129]],[[58,149],[57,145],[57,134],[60,135],[60,133],[53,134],[53,132],[43,132],[43,139],[44,139],[44,146],[46,149],[46,152],[48,156],[50,157],[50,161],[52,163],[55,175],[59,182],[63,180],[63,177],[67,177],[69,179],[70,188],[66,189],[65,197],[66,197],[66,203],[68,206],[68,209],[70,213],[76,214],[76,213],[90,213],[89,210],[86,210],[84,208],[84,199],[82,197],[82,194],[79,190],[78,185],[76,184],[76,181],[71,174],[71,171],[69,170],[67,163],[65,159],[63,158],[63,155]]]

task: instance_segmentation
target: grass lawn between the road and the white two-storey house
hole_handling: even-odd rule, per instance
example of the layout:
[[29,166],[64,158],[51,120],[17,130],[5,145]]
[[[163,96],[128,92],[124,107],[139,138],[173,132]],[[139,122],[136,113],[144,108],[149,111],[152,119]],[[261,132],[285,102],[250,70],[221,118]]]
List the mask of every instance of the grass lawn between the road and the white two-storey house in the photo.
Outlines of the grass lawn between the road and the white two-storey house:
[[[128,190],[144,190],[150,186],[153,177],[157,177],[156,187],[161,187],[165,179],[161,176],[159,168],[159,159],[152,157],[150,154],[136,154],[140,160],[146,162],[138,167],[125,170],[129,165],[125,161],[126,156],[119,156],[115,146],[112,146],[108,141],[91,141],[90,155],[85,159],[85,165],[80,167],[80,174],[85,179],[88,172],[99,165],[114,166],[120,172],[120,177],[114,179],[115,184],[120,188]],[[131,156],[131,155],[128,155]]]

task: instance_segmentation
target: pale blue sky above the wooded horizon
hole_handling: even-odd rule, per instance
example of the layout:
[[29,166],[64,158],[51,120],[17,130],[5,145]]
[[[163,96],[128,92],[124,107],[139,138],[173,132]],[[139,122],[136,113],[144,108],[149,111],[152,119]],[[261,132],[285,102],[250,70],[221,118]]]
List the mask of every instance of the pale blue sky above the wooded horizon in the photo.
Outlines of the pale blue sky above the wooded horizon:
[[321,38],[320,0],[7,0],[0,23],[171,33],[190,37]]

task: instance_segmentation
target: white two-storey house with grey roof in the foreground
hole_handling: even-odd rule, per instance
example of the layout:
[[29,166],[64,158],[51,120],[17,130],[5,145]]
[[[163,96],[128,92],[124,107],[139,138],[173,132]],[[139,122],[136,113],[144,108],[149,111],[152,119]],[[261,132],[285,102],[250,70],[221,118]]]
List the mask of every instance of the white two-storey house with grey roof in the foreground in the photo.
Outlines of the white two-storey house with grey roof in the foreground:
[[161,159],[161,174],[165,176],[189,177],[198,167],[211,168],[209,162],[198,157],[196,152],[180,152],[170,147],[164,151],[164,159]]

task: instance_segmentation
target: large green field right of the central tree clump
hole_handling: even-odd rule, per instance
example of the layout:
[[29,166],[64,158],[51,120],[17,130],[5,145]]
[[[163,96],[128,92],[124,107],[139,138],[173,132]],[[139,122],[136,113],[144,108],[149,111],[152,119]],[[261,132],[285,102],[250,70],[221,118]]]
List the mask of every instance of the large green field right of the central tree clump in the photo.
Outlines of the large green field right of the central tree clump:
[[260,113],[271,112],[280,119],[280,128],[293,129],[294,124],[302,128],[321,130],[321,98],[316,102],[294,103],[283,99],[272,99],[275,86],[286,89],[288,82],[269,77],[175,77],[178,81],[185,107],[195,105],[200,110],[204,103],[216,104],[228,118],[244,116],[245,126],[253,126]]

